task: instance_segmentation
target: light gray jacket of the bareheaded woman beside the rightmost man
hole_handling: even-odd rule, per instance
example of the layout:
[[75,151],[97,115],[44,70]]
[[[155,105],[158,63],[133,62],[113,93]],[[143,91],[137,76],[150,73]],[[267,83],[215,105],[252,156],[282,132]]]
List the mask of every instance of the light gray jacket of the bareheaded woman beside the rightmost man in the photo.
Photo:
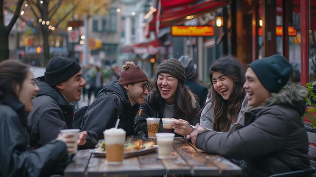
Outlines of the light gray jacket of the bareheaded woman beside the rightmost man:
[[[213,123],[214,123],[214,107],[212,106],[212,102],[210,101],[211,90],[209,90],[206,98],[205,106],[202,110],[201,117],[200,117],[200,125],[204,128],[212,130]],[[244,116],[243,113],[245,109],[248,107],[248,95],[245,96],[244,100],[241,103],[241,108],[238,113],[236,123],[232,124],[228,132],[233,132],[236,129],[240,129],[244,127]]]

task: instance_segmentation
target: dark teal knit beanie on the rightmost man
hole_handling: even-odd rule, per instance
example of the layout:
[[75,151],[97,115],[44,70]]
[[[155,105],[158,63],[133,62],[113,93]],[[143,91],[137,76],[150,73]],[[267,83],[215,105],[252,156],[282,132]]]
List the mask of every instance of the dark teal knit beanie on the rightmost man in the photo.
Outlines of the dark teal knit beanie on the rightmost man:
[[270,93],[278,93],[287,84],[292,70],[286,58],[278,54],[256,60],[248,67]]

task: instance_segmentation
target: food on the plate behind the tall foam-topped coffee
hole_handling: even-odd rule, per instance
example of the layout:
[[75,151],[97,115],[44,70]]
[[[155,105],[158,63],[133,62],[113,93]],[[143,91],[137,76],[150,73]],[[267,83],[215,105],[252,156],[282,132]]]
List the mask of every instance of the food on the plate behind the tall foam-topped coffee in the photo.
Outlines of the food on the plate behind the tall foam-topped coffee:
[[[148,149],[148,148],[152,148],[153,145],[155,145],[154,141],[143,142],[142,140],[136,140],[133,143],[132,142],[125,143],[124,152],[133,152],[137,150]],[[104,142],[100,143],[100,145],[97,147],[97,151],[100,151],[100,152],[106,151],[106,143]]]

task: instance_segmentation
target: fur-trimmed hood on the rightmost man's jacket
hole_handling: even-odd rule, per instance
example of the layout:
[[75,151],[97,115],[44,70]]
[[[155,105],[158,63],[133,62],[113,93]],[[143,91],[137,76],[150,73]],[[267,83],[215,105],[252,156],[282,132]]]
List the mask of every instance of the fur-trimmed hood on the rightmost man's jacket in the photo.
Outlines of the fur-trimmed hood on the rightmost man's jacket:
[[259,107],[249,106],[247,111],[258,111],[272,105],[288,105],[303,114],[306,107],[305,98],[307,95],[308,90],[305,87],[296,84],[286,85],[279,93],[271,93],[271,97],[264,104]]

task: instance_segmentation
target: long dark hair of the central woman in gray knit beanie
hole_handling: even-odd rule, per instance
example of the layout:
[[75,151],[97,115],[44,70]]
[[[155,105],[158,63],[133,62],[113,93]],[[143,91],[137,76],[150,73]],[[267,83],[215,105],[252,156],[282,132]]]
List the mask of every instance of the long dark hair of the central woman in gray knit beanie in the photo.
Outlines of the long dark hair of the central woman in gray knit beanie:
[[[152,102],[157,106],[159,117],[164,116],[164,105],[165,99],[162,98],[160,91],[157,86],[157,79],[155,80],[155,85],[150,92]],[[198,119],[198,115],[195,114],[194,108],[192,106],[192,98],[189,91],[189,88],[184,85],[179,80],[179,84],[176,92],[176,101],[175,101],[175,117],[176,119],[183,119],[188,121],[189,119]]]

